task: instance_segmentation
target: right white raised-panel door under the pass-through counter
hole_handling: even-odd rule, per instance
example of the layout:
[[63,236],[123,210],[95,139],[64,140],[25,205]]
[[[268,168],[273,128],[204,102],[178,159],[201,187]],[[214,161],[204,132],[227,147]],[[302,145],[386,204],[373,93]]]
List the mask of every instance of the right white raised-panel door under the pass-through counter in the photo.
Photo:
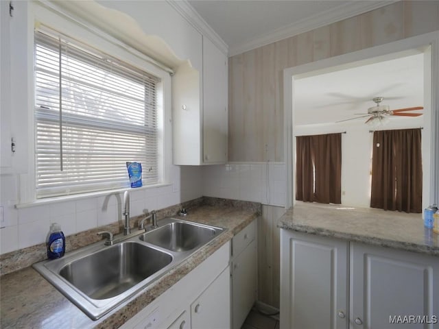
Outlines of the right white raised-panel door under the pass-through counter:
[[[390,322],[400,316],[425,316],[425,322],[436,322],[438,257],[351,243],[350,275],[352,328],[395,328],[398,322]],[[403,327],[439,328],[437,323],[420,322],[416,318]]]

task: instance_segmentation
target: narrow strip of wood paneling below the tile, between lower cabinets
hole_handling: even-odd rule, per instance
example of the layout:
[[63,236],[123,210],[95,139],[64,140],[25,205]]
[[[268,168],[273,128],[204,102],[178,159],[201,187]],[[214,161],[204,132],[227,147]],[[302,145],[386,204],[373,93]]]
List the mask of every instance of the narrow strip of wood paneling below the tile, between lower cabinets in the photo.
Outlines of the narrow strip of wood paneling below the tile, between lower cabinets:
[[279,308],[281,293],[280,229],[277,227],[285,208],[262,206],[258,221],[258,300]]

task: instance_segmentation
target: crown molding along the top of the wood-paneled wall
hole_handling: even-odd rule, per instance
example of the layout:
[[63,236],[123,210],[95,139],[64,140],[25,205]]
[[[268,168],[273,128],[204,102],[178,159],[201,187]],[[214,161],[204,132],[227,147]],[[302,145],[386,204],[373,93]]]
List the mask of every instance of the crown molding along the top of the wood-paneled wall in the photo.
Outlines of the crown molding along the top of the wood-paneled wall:
[[345,5],[339,5],[331,10],[321,12],[312,16],[302,19],[291,25],[281,27],[267,34],[263,34],[258,38],[254,38],[243,45],[237,47],[229,47],[228,56],[235,56],[239,53],[244,53],[252,49],[262,47],[264,45],[269,45],[272,42],[283,40],[285,38],[290,38],[298,34],[309,32],[318,27],[323,27],[344,19],[357,16],[359,14],[364,14],[365,12],[370,12],[377,8],[381,8],[385,5],[390,5],[397,1],[352,1]]

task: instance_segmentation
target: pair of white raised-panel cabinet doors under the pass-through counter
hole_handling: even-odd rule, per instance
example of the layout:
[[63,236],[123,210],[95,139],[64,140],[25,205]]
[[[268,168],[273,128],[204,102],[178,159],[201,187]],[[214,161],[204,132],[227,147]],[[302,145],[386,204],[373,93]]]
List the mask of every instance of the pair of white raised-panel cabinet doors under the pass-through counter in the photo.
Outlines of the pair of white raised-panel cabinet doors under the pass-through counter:
[[439,328],[439,257],[281,230],[281,329]]

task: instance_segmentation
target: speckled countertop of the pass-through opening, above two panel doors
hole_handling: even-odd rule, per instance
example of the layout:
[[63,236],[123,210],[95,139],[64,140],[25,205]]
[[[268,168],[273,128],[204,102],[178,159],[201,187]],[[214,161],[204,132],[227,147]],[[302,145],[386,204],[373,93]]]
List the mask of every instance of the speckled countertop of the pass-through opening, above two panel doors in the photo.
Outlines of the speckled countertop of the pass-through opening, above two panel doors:
[[279,228],[439,256],[439,234],[421,214],[297,202]]

